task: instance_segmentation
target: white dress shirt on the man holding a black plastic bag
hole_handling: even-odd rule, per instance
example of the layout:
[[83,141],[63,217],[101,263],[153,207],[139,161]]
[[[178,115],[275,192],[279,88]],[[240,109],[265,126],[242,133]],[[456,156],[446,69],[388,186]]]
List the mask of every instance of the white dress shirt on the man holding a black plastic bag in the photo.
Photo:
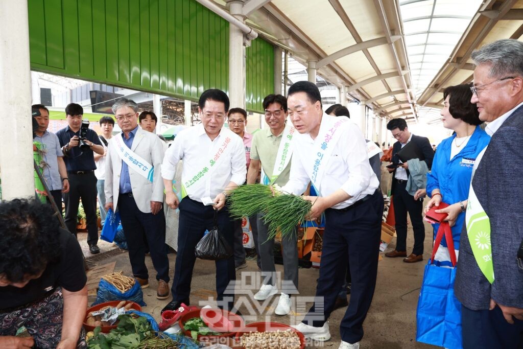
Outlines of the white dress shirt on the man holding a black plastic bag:
[[[211,165],[211,160],[223,150],[226,139],[230,140],[228,150]],[[182,190],[191,199],[200,202],[202,197],[214,199],[229,182],[242,185],[247,175],[243,140],[226,128],[222,128],[213,141],[207,136],[202,124],[180,131],[165,153],[162,164],[164,179],[174,178],[176,164],[180,160],[184,161],[181,171]]]

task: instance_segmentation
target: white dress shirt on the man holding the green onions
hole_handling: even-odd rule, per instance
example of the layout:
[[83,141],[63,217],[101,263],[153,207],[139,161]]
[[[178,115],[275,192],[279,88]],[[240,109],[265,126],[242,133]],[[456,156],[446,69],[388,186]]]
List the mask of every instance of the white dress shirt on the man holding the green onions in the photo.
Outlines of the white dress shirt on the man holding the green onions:
[[[330,119],[330,120],[329,120]],[[318,137],[325,133],[328,125],[332,125],[335,116],[323,114]],[[358,126],[350,119],[343,123],[336,132],[342,132],[330,159],[325,163],[325,173],[321,178],[321,196],[328,196],[343,189],[350,199],[339,202],[332,208],[340,209],[354,204],[359,199],[374,194],[379,186],[378,178],[372,171],[367,156],[367,142]],[[317,153],[314,139],[309,133],[295,133],[294,151],[291,161],[289,182],[281,188],[283,192],[301,195],[311,179],[305,166],[310,165],[310,158]]]

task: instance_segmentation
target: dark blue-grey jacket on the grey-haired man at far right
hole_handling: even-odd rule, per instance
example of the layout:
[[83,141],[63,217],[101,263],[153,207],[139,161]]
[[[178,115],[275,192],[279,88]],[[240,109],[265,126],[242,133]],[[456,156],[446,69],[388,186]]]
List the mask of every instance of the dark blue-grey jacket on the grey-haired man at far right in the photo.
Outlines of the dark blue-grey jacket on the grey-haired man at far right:
[[523,239],[523,107],[516,109],[493,134],[472,179],[477,199],[491,223],[494,283],[477,266],[467,235],[466,223],[454,293],[472,310],[486,310],[490,299],[508,307],[523,308],[523,270],[517,251]]

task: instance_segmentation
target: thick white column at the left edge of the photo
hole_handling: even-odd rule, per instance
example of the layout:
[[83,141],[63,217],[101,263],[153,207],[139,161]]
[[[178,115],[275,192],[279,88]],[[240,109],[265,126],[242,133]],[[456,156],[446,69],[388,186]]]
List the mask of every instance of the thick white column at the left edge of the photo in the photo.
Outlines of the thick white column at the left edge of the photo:
[[0,14],[2,199],[35,197],[27,2],[1,1]]

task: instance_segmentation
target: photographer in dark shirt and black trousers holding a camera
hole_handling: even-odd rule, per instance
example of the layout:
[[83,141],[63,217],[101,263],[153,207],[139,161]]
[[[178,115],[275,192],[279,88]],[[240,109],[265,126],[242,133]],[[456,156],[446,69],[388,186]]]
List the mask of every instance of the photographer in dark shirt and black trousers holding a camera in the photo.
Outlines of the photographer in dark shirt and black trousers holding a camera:
[[89,121],[83,120],[82,106],[71,103],[65,107],[69,126],[56,132],[64,154],[69,193],[64,194],[65,225],[76,236],[78,204],[82,199],[87,218],[87,243],[89,251],[99,253],[98,226],[96,224],[96,169],[94,153],[103,155],[104,147],[95,131],[89,129]]

